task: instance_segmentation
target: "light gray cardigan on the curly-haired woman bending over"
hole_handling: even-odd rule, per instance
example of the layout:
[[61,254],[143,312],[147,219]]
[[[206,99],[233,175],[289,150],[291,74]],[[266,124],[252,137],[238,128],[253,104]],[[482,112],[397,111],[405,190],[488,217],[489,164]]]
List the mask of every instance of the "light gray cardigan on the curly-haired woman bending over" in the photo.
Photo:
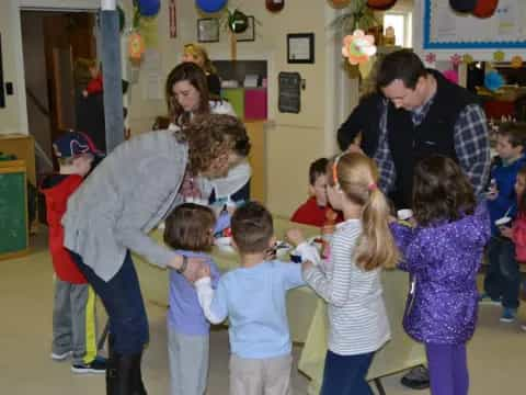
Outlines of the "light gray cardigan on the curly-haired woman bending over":
[[[172,131],[141,134],[117,146],[68,201],[62,217],[66,248],[110,281],[132,249],[160,267],[175,253],[148,233],[182,203],[178,194],[187,146]],[[199,178],[205,195],[207,180]]]

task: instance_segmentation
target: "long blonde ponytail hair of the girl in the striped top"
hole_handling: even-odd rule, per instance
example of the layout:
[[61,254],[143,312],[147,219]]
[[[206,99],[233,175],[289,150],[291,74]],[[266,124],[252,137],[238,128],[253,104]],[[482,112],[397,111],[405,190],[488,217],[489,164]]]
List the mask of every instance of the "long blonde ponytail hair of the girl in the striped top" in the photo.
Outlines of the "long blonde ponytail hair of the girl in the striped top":
[[393,268],[400,253],[389,229],[389,204],[377,187],[375,162],[365,155],[346,153],[338,156],[330,169],[329,183],[363,207],[363,232],[354,252],[356,264],[365,271]]

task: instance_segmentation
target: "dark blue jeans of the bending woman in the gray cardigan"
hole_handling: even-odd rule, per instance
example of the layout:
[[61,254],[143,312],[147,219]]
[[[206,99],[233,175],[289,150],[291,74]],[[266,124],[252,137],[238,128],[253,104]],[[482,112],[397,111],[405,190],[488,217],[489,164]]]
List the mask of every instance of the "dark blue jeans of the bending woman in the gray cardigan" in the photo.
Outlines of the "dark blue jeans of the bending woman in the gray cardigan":
[[129,251],[118,272],[108,282],[85,266],[82,257],[70,253],[106,308],[110,332],[115,341],[113,350],[122,356],[140,353],[149,340],[148,318]]

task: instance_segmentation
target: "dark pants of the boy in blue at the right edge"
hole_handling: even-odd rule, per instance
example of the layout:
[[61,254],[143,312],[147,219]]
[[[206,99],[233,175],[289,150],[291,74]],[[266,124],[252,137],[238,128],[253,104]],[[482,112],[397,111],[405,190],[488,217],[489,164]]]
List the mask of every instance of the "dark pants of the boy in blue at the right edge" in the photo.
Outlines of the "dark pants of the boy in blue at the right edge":
[[484,291],[492,300],[502,297],[507,308],[518,307],[521,272],[515,259],[515,245],[503,237],[492,237],[488,245],[490,266],[484,278]]

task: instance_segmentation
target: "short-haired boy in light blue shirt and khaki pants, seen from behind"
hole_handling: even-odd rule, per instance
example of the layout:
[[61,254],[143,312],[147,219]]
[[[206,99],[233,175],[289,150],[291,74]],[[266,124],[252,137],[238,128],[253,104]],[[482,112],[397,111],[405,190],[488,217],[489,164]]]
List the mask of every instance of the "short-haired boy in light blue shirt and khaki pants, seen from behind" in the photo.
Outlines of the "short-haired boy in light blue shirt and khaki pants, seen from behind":
[[286,395],[293,365],[287,291],[304,284],[301,266],[267,261],[275,238],[268,211],[256,202],[232,216],[232,245],[241,267],[221,276],[213,291],[205,269],[195,287],[205,316],[229,317],[230,395]]

